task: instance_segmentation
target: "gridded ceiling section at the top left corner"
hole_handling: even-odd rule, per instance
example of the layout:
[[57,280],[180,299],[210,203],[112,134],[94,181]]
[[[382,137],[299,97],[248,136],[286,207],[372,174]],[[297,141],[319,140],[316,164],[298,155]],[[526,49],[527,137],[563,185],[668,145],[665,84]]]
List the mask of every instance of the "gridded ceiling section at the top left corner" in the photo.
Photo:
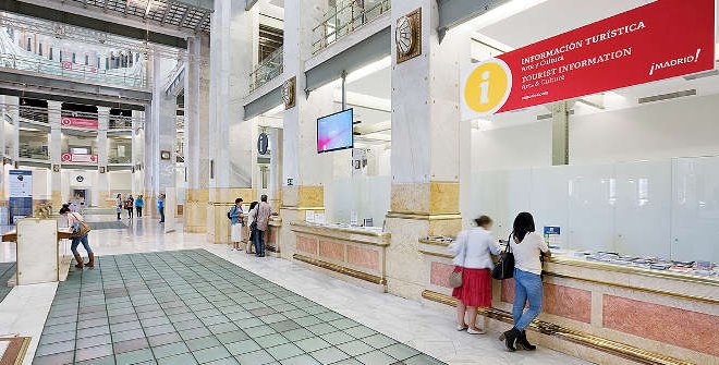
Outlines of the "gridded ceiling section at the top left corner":
[[190,32],[210,31],[211,9],[194,7],[180,0],[51,0],[52,2],[94,9],[105,14],[153,22]]

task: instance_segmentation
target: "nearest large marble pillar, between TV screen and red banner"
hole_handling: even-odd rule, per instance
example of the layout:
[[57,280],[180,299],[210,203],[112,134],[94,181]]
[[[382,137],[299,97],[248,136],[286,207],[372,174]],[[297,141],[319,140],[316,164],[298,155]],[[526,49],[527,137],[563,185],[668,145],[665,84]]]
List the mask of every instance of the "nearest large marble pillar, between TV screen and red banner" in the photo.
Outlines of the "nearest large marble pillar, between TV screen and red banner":
[[418,240],[454,235],[462,227],[459,63],[470,56],[467,31],[454,28],[439,42],[434,0],[392,3],[392,45],[395,20],[418,8],[422,54],[398,64],[392,46],[392,193],[386,222],[388,289],[410,299],[419,299],[429,283]]

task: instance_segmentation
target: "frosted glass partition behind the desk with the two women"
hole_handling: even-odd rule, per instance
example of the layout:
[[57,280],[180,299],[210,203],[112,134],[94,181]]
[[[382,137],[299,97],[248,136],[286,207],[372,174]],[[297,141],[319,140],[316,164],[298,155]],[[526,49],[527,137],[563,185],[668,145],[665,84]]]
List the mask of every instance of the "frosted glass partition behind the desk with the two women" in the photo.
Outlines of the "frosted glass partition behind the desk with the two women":
[[520,211],[561,248],[719,261],[719,156],[475,171],[465,217],[509,235]]

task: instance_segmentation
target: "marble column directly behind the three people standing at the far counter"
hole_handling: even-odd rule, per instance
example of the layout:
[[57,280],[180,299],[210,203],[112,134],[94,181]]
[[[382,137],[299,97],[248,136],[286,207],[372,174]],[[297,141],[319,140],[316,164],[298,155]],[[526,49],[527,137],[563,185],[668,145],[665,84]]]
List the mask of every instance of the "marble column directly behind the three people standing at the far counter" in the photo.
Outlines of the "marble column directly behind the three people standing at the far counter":
[[253,25],[257,5],[245,11],[241,1],[217,0],[210,37],[210,133],[209,202],[207,240],[227,243],[230,221],[227,211],[234,199],[256,198],[252,187],[254,123],[243,119],[243,98],[249,90]]

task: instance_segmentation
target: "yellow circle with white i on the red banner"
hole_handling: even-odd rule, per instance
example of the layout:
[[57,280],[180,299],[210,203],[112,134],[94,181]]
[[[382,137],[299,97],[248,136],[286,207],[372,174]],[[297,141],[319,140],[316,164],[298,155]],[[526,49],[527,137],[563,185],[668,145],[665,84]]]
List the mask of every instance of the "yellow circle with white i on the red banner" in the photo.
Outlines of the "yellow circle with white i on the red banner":
[[500,59],[490,59],[475,66],[464,83],[464,102],[473,111],[491,114],[499,110],[512,90],[512,73]]

